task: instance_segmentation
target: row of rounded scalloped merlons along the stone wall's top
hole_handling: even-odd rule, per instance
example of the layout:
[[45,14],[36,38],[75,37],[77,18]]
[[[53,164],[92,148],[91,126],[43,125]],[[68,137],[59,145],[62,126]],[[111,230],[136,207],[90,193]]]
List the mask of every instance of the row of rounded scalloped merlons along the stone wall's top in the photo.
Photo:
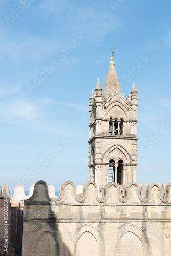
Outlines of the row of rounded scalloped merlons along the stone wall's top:
[[[9,194],[9,187],[4,183],[3,189],[0,187],[1,197],[6,197],[10,203],[18,204],[25,200],[26,204],[33,201],[41,202],[60,202],[69,204],[72,203],[171,203],[170,197],[171,183],[160,184],[136,184],[134,182],[126,186],[119,186],[116,183],[109,183],[101,192],[96,183],[89,181],[84,186],[77,186],[66,181],[60,188],[59,196],[55,195],[55,188],[52,185],[47,185],[45,181],[38,181],[32,184],[29,190],[29,195],[25,195],[24,186],[16,185],[13,195]],[[38,195],[38,196],[37,196]],[[45,197],[46,195],[46,197]],[[79,195],[79,196],[78,196]]]

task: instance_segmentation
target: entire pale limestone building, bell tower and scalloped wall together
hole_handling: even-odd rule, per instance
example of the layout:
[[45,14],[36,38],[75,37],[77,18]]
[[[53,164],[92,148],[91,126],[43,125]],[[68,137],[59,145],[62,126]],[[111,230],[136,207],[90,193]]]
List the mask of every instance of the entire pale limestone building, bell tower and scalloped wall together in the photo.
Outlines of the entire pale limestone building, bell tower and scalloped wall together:
[[[136,184],[137,89],[121,96],[111,57],[102,94],[90,97],[89,182],[62,184],[59,196],[38,181],[25,196],[0,191],[0,255],[4,198],[8,200],[9,252],[22,256],[170,256],[171,183]],[[23,201],[21,201],[23,200]],[[11,216],[15,216],[15,219]]]

